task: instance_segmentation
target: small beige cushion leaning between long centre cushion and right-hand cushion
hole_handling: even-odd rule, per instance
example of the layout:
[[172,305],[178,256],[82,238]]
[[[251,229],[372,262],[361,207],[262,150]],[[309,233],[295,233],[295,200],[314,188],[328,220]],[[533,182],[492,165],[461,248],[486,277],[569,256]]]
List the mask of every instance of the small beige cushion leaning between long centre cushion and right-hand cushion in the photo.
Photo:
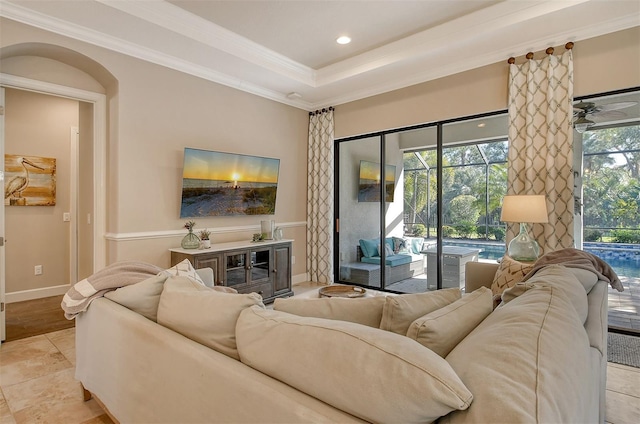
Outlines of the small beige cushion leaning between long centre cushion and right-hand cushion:
[[413,321],[407,337],[443,358],[493,311],[491,290],[480,287]]

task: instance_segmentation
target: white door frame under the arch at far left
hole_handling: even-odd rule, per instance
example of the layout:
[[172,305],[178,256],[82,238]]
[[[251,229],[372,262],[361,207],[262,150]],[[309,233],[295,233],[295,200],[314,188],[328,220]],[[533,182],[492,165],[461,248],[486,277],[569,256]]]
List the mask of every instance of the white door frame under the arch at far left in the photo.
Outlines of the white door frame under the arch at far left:
[[[52,84],[44,81],[33,80],[0,73],[0,87],[14,88],[18,90],[32,91],[36,93],[48,94],[57,97],[78,100],[93,105],[93,269],[102,269],[106,265],[106,158],[107,158],[107,96],[102,93],[81,90],[59,84]],[[2,90],[4,93],[4,90]],[[4,103],[4,102],[3,102]],[[4,117],[0,118],[4,119]],[[3,165],[0,171],[4,170],[4,125],[0,126],[0,153],[2,153]],[[3,184],[4,185],[4,184]],[[0,213],[0,236],[4,236],[4,206]],[[0,301],[2,302],[2,312],[0,312],[0,340],[5,339],[5,267],[4,267],[4,247],[0,247]]]

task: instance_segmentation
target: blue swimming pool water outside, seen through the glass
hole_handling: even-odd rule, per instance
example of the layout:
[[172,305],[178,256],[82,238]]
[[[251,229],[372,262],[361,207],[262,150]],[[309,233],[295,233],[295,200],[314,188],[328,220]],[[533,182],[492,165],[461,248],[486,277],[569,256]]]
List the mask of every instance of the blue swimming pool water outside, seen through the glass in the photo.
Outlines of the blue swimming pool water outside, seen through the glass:
[[[446,239],[445,246],[460,246],[480,249],[481,259],[497,260],[504,256],[506,247],[502,243],[495,242],[471,242]],[[593,253],[603,261],[611,265],[611,268],[619,276],[640,278],[640,245],[617,245],[585,243],[584,250]]]

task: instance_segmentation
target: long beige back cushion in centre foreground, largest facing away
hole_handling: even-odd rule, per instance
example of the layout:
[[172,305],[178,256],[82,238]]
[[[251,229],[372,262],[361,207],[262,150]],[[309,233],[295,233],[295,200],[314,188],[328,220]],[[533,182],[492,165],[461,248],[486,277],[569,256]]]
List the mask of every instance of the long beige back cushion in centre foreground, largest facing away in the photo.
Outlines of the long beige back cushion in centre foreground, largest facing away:
[[253,307],[236,336],[243,363],[366,421],[432,422],[472,400],[444,359],[379,329]]

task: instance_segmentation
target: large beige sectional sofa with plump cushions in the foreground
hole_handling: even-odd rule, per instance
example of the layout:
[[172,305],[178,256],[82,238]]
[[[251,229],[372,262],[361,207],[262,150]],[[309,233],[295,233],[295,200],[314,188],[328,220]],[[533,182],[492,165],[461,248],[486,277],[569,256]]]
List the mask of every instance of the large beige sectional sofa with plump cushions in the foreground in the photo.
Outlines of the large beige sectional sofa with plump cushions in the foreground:
[[273,309],[141,282],[77,316],[76,378],[122,423],[603,422],[607,284],[550,266],[493,310],[497,266],[468,266],[462,296],[310,292]]

